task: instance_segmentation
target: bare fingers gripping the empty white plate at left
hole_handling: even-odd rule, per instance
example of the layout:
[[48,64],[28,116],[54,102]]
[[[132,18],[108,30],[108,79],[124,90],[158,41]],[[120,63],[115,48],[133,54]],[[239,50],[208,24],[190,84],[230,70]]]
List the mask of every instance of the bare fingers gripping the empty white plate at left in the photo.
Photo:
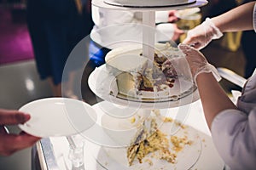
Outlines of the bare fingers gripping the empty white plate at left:
[[0,110],[0,155],[10,156],[15,151],[23,150],[35,144],[40,138],[21,132],[11,134],[4,125],[17,125],[27,122],[30,119],[28,114],[20,111]]

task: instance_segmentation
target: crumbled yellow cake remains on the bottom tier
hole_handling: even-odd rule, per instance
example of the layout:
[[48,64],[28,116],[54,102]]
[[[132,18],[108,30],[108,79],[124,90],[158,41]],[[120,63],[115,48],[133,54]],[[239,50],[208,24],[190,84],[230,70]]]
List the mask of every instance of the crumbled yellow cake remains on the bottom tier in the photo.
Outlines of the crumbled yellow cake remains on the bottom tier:
[[[181,123],[173,121],[172,118],[163,118],[163,122],[174,122],[177,126],[185,128]],[[155,119],[151,120],[150,132],[143,130],[137,135],[134,144],[127,148],[127,159],[129,166],[137,159],[139,163],[148,162],[153,165],[150,158],[165,160],[170,163],[176,163],[177,152],[183,150],[185,145],[191,145],[193,142],[185,135],[183,137],[168,136],[162,133],[157,126]],[[148,154],[151,153],[151,156]]]

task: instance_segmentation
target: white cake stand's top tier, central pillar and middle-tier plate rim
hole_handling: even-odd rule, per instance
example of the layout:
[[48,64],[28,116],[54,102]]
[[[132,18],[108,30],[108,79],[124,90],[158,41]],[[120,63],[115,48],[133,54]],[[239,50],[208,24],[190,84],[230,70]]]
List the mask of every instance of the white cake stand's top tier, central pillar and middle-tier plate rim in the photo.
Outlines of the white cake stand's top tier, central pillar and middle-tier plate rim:
[[[153,2],[153,3],[152,3]],[[155,2],[157,2],[155,4]],[[172,0],[93,0],[92,5],[98,8],[107,8],[113,10],[130,10],[130,11],[141,11],[143,12],[143,56],[149,60],[154,60],[154,29],[148,29],[148,27],[154,28],[155,26],[155,11],[165,11],[172,9],[184,9],[184,8],[195,8],[201,7],[207,4],[205,0],[189,0],[187,3],[180,4],[182,1]],[[170,4],[171,3],[171,4]],[[173,4],[172,4],[173,3]],[[102,65],[105,67],[105,65]],[[130,105],[131,107],[137,107],[140,103],[141,108],[170,108],[181,105],[187,105],[195,100],[199,99],[198,91],[195,87],[190,87],[181,94],[172,96],[169,99],[134,99],[129,96],[113,96],[109,93],[102,93],[96,90],[98,86],[98,79],[96,77],[96,71],[93,71],[88,80],[91,90],[100,98],[113,102],[119,105]],[[103,89],[104,90],[104,89]],[[108,89],[106,89],[107,91]]]

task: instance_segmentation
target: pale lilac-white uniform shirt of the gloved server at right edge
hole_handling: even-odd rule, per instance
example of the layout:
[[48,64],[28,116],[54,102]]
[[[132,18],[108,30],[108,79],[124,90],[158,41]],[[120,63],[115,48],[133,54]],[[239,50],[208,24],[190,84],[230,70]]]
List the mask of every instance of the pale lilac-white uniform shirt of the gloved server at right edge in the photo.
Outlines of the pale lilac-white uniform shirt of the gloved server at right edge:
[[[253,28],[256,31],[256,3]],[[239,111],[222,111],[214,118],[212,139],[231,169],[256,169],[256,70],[243,88],[237,107]]]

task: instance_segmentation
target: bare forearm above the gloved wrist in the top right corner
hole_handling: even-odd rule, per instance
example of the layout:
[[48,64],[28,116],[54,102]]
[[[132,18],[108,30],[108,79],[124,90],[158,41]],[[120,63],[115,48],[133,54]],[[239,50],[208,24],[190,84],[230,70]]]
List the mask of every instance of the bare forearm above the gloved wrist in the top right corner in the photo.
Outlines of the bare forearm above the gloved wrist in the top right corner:
[[245,3],[237,8],[212,18],[222,32],[253,30],[253,8],[255,2]]

